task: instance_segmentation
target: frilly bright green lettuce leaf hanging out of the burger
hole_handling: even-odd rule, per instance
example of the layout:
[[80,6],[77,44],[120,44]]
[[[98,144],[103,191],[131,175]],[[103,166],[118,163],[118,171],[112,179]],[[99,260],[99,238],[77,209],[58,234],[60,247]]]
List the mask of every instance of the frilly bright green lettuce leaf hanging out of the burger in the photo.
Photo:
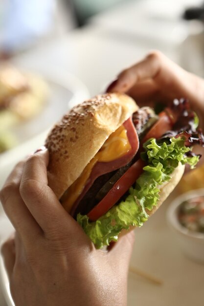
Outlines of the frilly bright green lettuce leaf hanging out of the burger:
[[122,229],[143,225],[148,219],[146,210],[151,211],[159,201],[159,185],[171,178],[180,162],[195,167],[199,156],[186,156],[191,149],[185,147],[184,142],[181,137],[173,137],[169,141],[149,139],[143,145],[144,152],[141,154],[147,166],[143,168],[134,188],[130,188],[129,196],[95,222],[90,222],[87,216],[77,215],[78,223],[96,248],[116,241]]

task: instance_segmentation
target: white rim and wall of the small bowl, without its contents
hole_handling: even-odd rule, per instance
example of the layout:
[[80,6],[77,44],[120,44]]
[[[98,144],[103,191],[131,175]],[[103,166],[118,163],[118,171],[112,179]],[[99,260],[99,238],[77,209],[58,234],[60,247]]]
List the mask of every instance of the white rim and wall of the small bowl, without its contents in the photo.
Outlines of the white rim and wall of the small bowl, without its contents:
[[183,254],[196,262],[204,264],[204,234],[188,230],[181,225],[178,219],[181,203],[199,196],[204,196],[204,189],[193,190],[177,197],[168,207],[167,222],[170,228],[173,229]]

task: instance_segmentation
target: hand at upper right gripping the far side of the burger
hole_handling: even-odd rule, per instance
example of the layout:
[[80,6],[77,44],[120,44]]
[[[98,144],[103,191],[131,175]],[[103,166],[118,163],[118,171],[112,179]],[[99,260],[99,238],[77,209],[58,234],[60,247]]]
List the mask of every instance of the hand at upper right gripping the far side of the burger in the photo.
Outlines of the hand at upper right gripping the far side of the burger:
[[[159,51],[153,51],[141,62],[123,70],[107,92],[124,92],[136,103],[169,103],[187,98],[200,122],[204,118],[204,80],[173,63]],[[204,129],[204,123],[203,129]]]

